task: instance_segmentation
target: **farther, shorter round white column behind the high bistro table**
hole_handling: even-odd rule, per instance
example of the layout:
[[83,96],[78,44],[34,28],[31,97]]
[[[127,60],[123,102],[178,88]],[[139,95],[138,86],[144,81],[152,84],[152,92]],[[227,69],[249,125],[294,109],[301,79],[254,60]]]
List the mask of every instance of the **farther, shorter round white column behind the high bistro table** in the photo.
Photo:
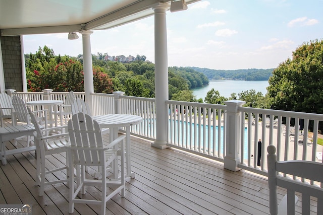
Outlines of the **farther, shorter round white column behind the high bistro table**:
[[91,53],[91,37],[92,31],[80,31],[83,43],[83,72],[84,72],[84,92],[85,101],[89,104],[92,111],[91,93],[94,93],[93,87],[93,68]]

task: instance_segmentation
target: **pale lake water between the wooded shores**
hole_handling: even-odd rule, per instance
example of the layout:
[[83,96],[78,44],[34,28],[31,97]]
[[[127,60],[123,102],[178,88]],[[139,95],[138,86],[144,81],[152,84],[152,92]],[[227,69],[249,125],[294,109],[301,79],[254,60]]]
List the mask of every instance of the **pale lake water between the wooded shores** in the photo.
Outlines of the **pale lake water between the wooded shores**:
[[242,81],[242,80],[221,80],[221,81],[209,81],[209,85],[193,90],[193,95],[197,99],[206,97],[208,91],[212,88],[218,90],[221,96],[229,98],[232,93],[241,93],[247,90],[255,90],[261,92],[264,96],[267,93],[266,87],[268,87],[268,81]]

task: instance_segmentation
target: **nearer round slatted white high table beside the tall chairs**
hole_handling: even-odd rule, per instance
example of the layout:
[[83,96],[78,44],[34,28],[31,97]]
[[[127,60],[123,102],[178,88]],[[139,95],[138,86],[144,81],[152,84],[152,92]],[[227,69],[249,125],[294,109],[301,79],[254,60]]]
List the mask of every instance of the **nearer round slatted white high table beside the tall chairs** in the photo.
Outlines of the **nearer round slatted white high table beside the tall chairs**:
[[[120,127],[125,127],[126,129],[126,165],[127,173],[126,177],[134,178],[135,174],[131,172],[131,161],[130,161],[130,126],[139,124],[142,121],[141,116],[131,115],[131,114],[107,114],[107,115],[97,115],[92,116],[92,119],[96,120],[101,128],[109,128],[110,142],[118,137],[118,130]],[[118,168],[117,162],[115,162],[114,169]],[[115,171],[114,171],[115,173]],[[118,178],[118,174],[114,174],[115,179]]]

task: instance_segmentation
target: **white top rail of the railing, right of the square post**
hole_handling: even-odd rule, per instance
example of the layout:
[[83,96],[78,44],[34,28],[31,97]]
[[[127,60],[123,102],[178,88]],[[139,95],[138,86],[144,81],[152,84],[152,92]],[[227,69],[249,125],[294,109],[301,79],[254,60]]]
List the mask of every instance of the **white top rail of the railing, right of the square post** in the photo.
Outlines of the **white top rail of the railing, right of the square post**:
[[296,118],[313,119],[313,120],[315,119],[315,120],[323,121],[323,114],[318,114],[318,113],[303,113],[303,112],[296,112],[296,111],[271,110],[271,109],[261,109],[261,108],[251,108],[251,107],[238,107],[238,111],[274,115],[274,116],[296,117]]

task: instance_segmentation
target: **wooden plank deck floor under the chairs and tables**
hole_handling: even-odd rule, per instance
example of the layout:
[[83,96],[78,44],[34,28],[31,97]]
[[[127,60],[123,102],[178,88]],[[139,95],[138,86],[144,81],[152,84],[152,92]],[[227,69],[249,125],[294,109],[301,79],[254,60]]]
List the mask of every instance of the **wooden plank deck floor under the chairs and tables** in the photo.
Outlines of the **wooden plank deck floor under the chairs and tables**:
[[[21,144],[25,144],[21,142]],[[7,148],[14,148],[7,142]],[[268,214],[267,180],[244,170],[231,172],[172,149],[159,150],[148,141],[132,137],[132,171],[125,198],[119,194],[106,204],[106,214]],[[63,162],[63,163],[62,163]],[[63,166],[65,154],[49,157],[47,165]],[[0,204],[32,204],[33,214],[68,214],[67,184],[45,186],[38,196],[34,186],[35,152],[8,156],[0,164]],[[89,169],[88,177],[94,170]],[[60,172],[51,177],[64,177]],[[85,196],[100,198],[98,188]],[[98,214],[99,205],[75,204],[73,214]]]

